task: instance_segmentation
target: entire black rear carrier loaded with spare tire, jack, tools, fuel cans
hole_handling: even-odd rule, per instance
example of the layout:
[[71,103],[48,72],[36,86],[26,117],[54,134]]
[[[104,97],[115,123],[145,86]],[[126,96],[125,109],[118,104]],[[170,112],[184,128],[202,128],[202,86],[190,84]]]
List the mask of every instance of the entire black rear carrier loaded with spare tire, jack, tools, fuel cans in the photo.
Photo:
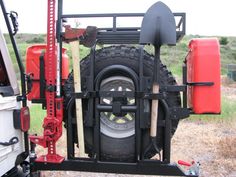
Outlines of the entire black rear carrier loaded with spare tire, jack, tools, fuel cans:
[[[143,18],[141,27],[118,27],[117,19],[130,17]],[[64,19],[76,18],[109,18],[113,25],[65,25]],[[23,89],[21,96],[47,110],[43,135],[29,136],[31,173],[68,170],[199,176],[198,162],[170,162],[171,137],[178,121],[190,114],[220,113],[217,39],[190,42],[182,68],[183,84],[177,85],[161,63],[160,51],[161,46],[174,46],[185,35],[185,13],[172,13],[164,3],[157,2],[145,14],[63,14],[63,0],[48,0],[47,20],[47,44],[27,50],[29,93],[26,97]],[[13,36],[10,25],[8,29]],[[63,42],[71,47],[71,73]],[[98,50],[99,44],[107,47]],[[80,45],[90,48],[90,54],[82,61]],[[145,45],[154,47],[154,56],[144,50]],[[32,67],[33,62],[37,69]],[[56,150],[63,121],[67,157]],[[26,133],[26,143],[27,136]],[[47,148],[47,154],[36,155],[36,145]],[[153,159],[154,155],[158,158]]]

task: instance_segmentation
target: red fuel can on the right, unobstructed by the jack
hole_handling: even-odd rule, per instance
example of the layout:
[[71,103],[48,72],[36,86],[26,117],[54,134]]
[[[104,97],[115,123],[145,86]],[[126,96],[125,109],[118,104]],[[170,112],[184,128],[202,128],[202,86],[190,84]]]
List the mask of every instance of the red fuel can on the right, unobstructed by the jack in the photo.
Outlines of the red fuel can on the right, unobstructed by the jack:
[[[191,40],[186,62],[188,106],[196,114],[220,113],[220,45],[218,40],[215,38]],[[204,85],[204,83],[213,85]]]

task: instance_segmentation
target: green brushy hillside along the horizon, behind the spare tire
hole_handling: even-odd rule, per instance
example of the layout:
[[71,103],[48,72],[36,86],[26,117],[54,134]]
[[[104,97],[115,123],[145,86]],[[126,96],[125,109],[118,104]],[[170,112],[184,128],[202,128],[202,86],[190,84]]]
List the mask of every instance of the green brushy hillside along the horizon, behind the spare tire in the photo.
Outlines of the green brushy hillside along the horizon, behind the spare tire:
[[[169,70],[177,76],[180,76],[182,73],[181,66],[185,56],[188,52],[188,43],[192,38],[199,38],[201,36],[198,35],[186,35],[175,47],[163,46],[161,49],[161,60],[162,62],[169,68]],[[13,58],[14,52],[10,45],[9,36],[5,35],[6,41],[8,43],[8,47],[10,50],[10,54]],[[45,34],[17,34],[16,40],[18,43],[19,51],[22,56],[22,60],[25,60],[26,48],[32,45],[35,42],[46,42]],[[220,39],[220,37],[219,37]],[[228,44],[221,45],[221,72],[222,74],[227,73],[227,65],[228,64],[236,64],[236,37],[227,37]],[[69,49],[69,45],[65,44],[65,48]],[[146,51],[153,54],[153,47],[147,46],[145,48]],[[85,57],[89,54],[89,49],[85,47],[81,47],[80,50],[81,58]],[[71,58],[71,52],[68,50],[68,55]],[[17,68],[17,66],[15,66]]]

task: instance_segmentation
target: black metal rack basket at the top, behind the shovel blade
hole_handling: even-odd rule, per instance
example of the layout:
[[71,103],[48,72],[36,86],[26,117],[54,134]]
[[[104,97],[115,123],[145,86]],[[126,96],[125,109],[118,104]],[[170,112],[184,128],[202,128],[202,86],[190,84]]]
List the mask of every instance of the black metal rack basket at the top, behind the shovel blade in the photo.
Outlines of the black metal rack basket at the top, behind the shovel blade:
[[[185,13],[173,13],[179,17],[176,22],[176,40],[179,41],[185,35]],[[144,13],[109,13],[109,14],[65,14],[62,19],[69,18],[112,18],[112,27],[99,28],[97,43],[100,44],[138,44],[141,27],[117,27],[117,18],[120,17],[143,17]],[[125,20],[125,19],[124,19]],[[141,24],[140,24],[141,25]]]

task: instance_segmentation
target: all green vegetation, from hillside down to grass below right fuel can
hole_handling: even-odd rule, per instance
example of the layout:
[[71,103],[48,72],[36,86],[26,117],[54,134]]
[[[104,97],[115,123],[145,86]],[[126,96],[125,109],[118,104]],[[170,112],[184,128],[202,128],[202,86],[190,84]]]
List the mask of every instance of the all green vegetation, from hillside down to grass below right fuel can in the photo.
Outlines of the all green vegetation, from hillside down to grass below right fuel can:
[[[174,47],[163,46],[161,49],[161,60],[162,62],[169,68],[169,70],[176,75],[177,77],[181,76],[182,73],[182,63],[185,59],[185,56],[188,52],[188,43],[192,38],[200,37],[200,36],[185,36],[181,42],[179,42]],[[15,59],[15,54],[10,44],[9,36],[5,35],[7,45],[9,48],[9,53],[13,59],[14,68],[18,71],[18,66]],[[18,43],[18,49],[21,54],[23,63],[25,63],[26,58],[26,48],[32,45],[34,42],[45,42],[46,36],[44,34],[18,34],[16,36],[16,40]],[[227,73],[227,64],[236,64],[236,37],[228,37],[228,44],[221,46],[221,71],[222,74]],[[67,54],[69,58],[71,58],[70,46],[65,44],[64,47],[68,49]],[[146,46],[145,50],[151,54],[154,53],[153,47]],[[89,54],[89,49],[85,47],[80,48],[81,58],[85,57]],[[70,68],[72,68],[72,62],[70,61]],[[19,72],[17,72],[19,73]],[[19,74],[17,74],[19,78]],[[227,98],[222,99],[222,113],[221,115],[194,115],[191,116],[192,120],[231,120],[234,116],[236,116],[236,102],[229,100]],[[42,132],[42,121],[45,117],[45,111],[41,110],[40,105],[33,105],[31,107],[31,132],[40,133]]]

